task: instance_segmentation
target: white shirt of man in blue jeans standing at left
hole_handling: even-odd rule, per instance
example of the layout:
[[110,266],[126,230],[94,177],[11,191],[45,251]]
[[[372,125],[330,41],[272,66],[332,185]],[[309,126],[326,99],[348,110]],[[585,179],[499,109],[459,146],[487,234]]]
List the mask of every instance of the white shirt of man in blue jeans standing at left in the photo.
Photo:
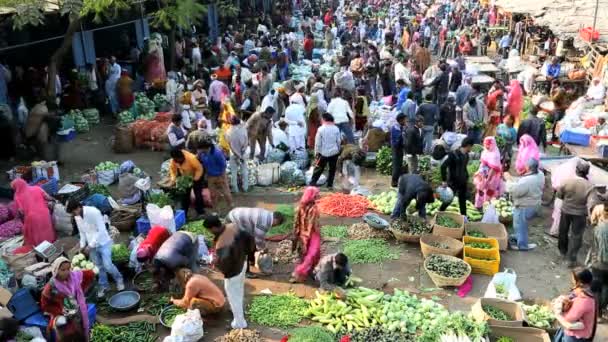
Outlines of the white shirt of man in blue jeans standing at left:
[[95,207],[82,207],[82,217],[75,217],[76,226],[80,233],[80,248],[96,248],[112,242],[106,228],[106,221],[101,211]]

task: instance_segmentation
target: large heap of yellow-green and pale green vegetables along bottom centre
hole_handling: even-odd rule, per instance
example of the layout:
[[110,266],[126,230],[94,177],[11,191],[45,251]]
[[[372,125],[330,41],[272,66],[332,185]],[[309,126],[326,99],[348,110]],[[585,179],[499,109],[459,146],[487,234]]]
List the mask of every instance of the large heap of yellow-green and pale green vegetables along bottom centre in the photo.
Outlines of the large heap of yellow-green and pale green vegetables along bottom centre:
[[441,304],[399,289],[389,295],[359,287],[349,290],[346,300],[317,292],[306,315],[334,333],[379,326],[392,332],[416,334],[416,341],[420,342],[436,342],[448,332],[481,341],[487,333],[485,322],[477,323],[462,313],[451,314]]

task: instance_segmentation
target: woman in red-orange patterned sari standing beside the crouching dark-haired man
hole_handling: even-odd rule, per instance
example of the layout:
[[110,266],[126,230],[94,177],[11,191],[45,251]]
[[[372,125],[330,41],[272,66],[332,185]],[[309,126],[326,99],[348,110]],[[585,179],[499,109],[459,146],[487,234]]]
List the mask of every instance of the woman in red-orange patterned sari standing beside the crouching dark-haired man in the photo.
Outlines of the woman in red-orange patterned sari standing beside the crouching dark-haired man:
[[304,282],[321,257],[319,209],[316,201],[319,188],[309,186],[304,190],[294,220],[292,249],[300,250],[300,262],[291,275],[290,282]]

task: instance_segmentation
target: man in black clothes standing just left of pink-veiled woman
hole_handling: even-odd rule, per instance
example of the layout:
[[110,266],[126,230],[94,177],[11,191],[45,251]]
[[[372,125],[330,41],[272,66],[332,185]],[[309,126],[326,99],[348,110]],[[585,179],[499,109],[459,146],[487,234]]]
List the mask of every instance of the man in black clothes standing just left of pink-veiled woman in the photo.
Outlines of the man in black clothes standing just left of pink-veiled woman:
[[[460,148],[448,153],[447,159],[441,164],[442,186],[449,186],[454,191],[454,195],[458,196],[460,214],[464,216],[467,215],[467,184],[469,181],[467,164],[469,163],[471,147],[473,147],[471,138],[464,138],[460,143]],[[450,204],[444,202],[439,210],[446,210]]]

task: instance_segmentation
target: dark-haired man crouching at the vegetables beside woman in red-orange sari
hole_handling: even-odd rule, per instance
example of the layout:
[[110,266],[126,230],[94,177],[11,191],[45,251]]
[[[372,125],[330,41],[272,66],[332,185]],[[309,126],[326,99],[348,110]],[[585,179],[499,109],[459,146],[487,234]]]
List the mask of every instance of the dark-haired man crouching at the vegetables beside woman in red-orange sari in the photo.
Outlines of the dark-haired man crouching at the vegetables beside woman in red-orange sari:
[[319,260],[315,267],[315,279],[321,289],[332,291],[336,287],[344,286],[352,271],[348,264],[348,257],[343,253],[329,254]]

